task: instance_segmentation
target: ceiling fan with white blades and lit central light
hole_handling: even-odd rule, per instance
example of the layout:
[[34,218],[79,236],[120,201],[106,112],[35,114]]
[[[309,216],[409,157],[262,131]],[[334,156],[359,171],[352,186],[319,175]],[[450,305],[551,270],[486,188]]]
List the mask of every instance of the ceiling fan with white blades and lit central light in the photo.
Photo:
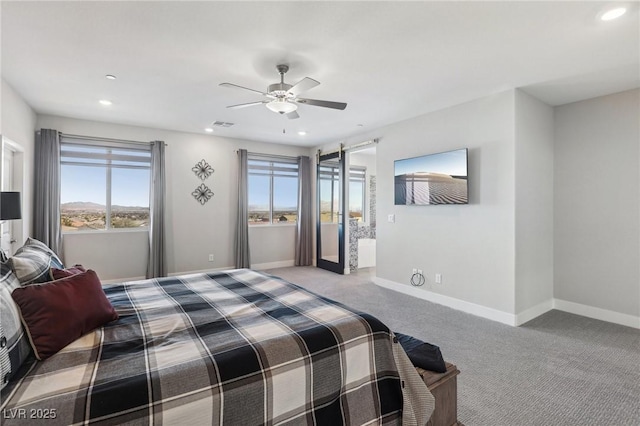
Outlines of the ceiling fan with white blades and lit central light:
[[309,89],[313,89],[318,84],[319,81],[316,81],[312,78],[305,77],[300,80],[298,83],[293,86],[284,82],[284,75],[287,71],[289,71],[288,65],[278,65],[276,67],[278,73],[280,73],[280,83],[274,83],[269,85],[266,92],[261,92],[260,90],[249,89],[248,87],[238,86],[237,84],[232,83],[220,83],[220,86],[224,87],[233,87],[243,90],[249,90],[251,92],[260,93],[263,96],[266,96],[268,99],[264,99],[262,101],[257,102],[249,102],[246,104],[238,104],[238,105],[230,105],[227,108],[245,108],[254,105],[266,105],[273,112],[277,112],[279,114],[285,114],[287,118],[294,119],[300,117],[297,113],[298,105],[313,105],[320,106],[324,108],[333,108],[343,110],[347,107],[347,104],[344,102],[331,102],[331,101],[320,101],[317,99],[307,99],[307,98],[299,98],[298,95],[302,92],[305,92]]

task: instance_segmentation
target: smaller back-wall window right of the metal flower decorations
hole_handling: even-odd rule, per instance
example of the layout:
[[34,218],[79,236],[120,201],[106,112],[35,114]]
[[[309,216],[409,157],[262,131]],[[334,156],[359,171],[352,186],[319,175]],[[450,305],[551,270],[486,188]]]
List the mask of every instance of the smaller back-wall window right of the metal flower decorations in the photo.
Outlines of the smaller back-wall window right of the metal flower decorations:
[[296,223],[298,160],[249,154],[249,224]]

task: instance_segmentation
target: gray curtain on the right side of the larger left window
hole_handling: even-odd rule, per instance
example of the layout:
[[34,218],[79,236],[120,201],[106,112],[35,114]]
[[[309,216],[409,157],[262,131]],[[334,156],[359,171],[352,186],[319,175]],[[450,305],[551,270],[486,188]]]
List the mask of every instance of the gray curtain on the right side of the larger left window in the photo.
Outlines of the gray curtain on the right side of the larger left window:
[[147,278],[167,276],[165,253],[164,142],[151,142],[151,188],[149,190],[149,259]]

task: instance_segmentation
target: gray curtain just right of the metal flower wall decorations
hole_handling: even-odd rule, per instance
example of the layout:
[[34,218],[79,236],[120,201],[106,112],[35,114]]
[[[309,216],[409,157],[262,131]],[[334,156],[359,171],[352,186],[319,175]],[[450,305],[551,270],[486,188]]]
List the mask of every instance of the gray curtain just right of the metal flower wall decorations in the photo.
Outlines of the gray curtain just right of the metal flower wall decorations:
[[246,149],[238,150],[238,218],[236,223],[236,268],[251,267],[249,254],[249,162]]

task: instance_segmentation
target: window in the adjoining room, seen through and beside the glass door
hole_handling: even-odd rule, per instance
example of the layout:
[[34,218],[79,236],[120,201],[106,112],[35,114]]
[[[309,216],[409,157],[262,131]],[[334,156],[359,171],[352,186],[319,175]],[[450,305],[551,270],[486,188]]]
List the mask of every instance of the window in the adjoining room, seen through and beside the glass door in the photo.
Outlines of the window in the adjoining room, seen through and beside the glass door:
[[[338,163],[323,163],[320,167],[320,221],[338,222],[340,209],[340,170]],[[365,220],[366,202],[366,168],[351,166],[349,168],[349,217],[358,221]]]

